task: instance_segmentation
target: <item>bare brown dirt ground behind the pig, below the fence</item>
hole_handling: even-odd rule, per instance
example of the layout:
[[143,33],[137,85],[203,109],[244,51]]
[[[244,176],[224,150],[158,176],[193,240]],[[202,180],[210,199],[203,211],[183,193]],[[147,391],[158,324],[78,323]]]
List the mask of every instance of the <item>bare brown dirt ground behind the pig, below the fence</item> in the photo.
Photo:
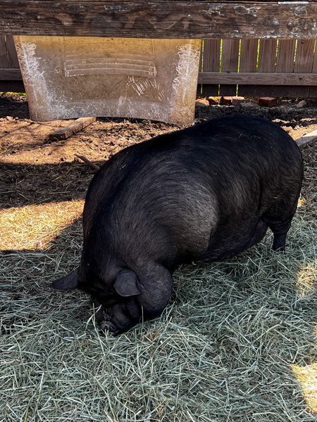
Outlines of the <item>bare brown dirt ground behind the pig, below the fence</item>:
[[[278,106],[256,106],[242,110],[237,106],[209,106],[196,110],[200,122],[219,115],[251,113],[280,124],[297,139],[317,129],[317,103],[307,101],[302,108],[297,102],[280,101]],[[61,203],[83,200],[94,171],[75,153],[85,155],[101,165],[121,148],[178,129],[172,124],[149,120],[99,118],[97,122],[65,141],[49,141],[55,129],[68,122],[32,122],[27,98],[15,94],[0,96],[0,208]],[[317,166],[317,143],[302,149],[304,160]],[[309,179],[311,183],[311,178]],[[304,190],[306,183],[304,181]],[[0,248],[1,249],[1,248]]]

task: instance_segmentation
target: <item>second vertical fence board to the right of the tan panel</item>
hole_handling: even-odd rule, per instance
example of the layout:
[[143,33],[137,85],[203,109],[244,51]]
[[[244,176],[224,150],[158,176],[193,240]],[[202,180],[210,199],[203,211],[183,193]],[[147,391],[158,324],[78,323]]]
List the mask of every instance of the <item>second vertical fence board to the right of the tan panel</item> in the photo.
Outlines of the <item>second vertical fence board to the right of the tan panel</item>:
[[[239,39],[223,39],[221,54],[221,72],[237,72],[239,62]],[[237,84],[220,85],[221,96],[235,96]]]

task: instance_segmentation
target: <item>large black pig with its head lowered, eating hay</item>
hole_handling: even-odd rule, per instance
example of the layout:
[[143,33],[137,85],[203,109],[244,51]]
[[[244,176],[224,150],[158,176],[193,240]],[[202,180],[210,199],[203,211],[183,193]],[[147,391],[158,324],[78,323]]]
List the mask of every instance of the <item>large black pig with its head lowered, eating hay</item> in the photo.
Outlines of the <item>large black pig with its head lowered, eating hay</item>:
[[179,264],[232,257],[268,227],[284,250],[302,177],[297,145],[260,117],[220,117],[125,148],[92,179],[80,267],[53,287],[85,290],[100,327],[126,331],[161,314]]

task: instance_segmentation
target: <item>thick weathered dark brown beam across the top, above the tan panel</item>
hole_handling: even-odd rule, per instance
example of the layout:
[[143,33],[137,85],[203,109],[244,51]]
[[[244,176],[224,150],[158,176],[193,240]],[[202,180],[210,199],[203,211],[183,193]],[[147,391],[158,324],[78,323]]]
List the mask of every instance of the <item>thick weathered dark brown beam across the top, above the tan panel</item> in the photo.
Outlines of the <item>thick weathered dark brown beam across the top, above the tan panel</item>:
[[0,34],[315,39],[312,1],[1,0]]

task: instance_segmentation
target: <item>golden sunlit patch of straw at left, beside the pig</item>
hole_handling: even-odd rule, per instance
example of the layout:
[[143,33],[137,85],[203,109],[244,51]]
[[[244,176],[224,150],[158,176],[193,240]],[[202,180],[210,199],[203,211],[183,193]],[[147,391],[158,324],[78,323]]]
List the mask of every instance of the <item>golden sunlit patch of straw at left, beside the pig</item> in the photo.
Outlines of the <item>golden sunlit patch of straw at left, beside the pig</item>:
[[0,250],[44,250],[82,214],[83,200],[0,211]]

